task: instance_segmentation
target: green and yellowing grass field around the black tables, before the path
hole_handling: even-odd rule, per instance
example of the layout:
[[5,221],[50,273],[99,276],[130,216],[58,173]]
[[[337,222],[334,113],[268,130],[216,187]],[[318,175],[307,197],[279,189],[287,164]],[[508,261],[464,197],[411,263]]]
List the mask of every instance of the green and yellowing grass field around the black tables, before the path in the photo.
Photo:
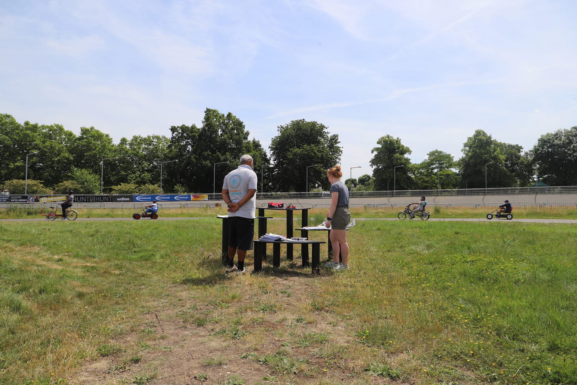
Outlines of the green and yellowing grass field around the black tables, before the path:
[[184,384],[166,382],[177,324],[203,332],[191,383],[577,384],[575,225],[365,220],[350,271],[313,276],[295,248],[236,276],[209,214],[0,222],[0,383]]

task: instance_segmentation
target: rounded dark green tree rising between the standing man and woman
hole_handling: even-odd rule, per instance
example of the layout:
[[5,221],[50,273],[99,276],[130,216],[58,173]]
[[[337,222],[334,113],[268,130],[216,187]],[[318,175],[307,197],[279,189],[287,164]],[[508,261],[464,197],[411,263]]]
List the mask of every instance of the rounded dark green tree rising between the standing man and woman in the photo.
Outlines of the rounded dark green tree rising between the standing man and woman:
[[[276,171],[273,188],[295,192],[310,191],[317,186],[328,189],[325,170],[337,165],[343,152],[339,136],[329,134],[324,124],[305,119],[278,126],[277,130],[278,135],[269,146]],[[306,168],[313,165],[319,166]]]

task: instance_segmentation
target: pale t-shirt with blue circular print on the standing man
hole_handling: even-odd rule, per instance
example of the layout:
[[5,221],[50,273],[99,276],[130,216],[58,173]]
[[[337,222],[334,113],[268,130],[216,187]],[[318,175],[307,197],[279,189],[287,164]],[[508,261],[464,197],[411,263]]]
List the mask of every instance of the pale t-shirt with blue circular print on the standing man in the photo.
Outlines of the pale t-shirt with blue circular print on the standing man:
[[[249,189],[256,190],[257,177],[249,165],[240,165],[238,169],[230,171],[222,184],[223,190],[228,190],[230,200],[234,203],[248,194]],[[251,200],[243,204],[237,211],[228,212],[228,216],[242,216],[243,218],[253,219],[256,216],[256,194]]]

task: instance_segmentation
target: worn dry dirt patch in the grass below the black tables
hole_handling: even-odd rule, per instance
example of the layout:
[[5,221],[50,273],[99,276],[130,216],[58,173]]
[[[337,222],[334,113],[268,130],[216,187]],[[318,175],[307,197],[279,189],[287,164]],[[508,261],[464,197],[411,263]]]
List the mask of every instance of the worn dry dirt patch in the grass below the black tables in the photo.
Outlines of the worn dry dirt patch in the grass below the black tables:
[[331,278],[248,275],[219,287],[172,286],[170,300],[152,304],[137,330],[110,342],[121,353],[89,362],[71,383],[358,380],[362,373],[351,375],[355,365],[343,355],[354,345],[352,331],[318,301],[323,279]]

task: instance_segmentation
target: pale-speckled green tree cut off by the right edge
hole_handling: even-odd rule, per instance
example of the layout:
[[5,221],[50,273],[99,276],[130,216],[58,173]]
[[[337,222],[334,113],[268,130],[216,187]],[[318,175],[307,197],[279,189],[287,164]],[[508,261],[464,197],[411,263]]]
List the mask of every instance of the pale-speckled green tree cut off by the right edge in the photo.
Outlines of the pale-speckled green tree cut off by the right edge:
[[539,180],[546,184],[577,185],[577,126],[539,137],[533,147],[533,162],[538,165]]

